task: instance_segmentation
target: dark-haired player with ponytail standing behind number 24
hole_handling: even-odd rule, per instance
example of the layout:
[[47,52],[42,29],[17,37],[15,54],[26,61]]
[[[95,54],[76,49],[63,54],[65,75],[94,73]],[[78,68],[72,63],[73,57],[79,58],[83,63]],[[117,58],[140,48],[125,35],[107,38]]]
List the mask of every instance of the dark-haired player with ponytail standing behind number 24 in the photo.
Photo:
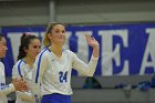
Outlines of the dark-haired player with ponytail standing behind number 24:
[[[19,47],[18,62],[12,70],[12,79],[23,78],[28,86],[31,89],[32,69],[35,56],[41,49],[41,42],[39,38],[32,34],[23,34],[21,37],[21,44]],[[35,103],[31,91],[16,92],[16,103]]]

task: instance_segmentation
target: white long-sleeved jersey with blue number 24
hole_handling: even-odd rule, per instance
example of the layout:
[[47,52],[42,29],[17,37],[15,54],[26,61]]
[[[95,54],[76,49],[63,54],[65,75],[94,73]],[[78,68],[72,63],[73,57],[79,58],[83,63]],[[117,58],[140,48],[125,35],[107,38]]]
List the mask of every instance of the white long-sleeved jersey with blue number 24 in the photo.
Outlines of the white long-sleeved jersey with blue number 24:
[[92,76],[99,58],[92,56],[89,64],[81,61],[72,51],[63,50],[59,59],[48,48],[37,56],[32,80],[42,85],[42,95],[60,93],[71,95],[71,72],[75,69],[81,74]]

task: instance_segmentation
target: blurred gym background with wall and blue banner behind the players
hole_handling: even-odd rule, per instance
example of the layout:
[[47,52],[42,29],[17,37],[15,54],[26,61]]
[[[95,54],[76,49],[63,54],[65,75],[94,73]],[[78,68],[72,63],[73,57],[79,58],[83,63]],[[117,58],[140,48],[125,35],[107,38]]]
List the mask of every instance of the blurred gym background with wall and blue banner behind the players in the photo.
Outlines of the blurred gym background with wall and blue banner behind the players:
[[[66,24],[65,48],[84,62],[92,53],[84,34],[101,45],[94,78],[72,72],[72,103],[155,102],[155,0],[0,0],[8,83],[22,33],[42,40],[50,22]],[[8,99],[14,103],[14,93]]]

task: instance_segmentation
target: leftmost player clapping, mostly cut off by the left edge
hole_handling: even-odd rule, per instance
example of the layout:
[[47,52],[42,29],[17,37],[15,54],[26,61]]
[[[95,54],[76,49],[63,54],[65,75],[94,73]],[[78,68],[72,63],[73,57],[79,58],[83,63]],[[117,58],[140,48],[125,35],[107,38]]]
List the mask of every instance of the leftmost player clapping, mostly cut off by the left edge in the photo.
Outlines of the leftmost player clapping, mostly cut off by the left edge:
[[[7,41],[2,34],[0,34],[0,59],[6,56]],[[8,103],[7,94],[14,91],[27,91],[27,84],[22,79],[14,79],[12,83],[6,85],[4,65],[0,61],[0,103]]]

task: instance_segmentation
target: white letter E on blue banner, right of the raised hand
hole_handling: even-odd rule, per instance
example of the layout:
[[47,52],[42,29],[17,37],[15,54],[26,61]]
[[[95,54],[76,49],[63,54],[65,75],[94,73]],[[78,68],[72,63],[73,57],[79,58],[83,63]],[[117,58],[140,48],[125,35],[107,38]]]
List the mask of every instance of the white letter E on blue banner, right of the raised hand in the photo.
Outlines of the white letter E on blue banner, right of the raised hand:
[[[102,37],[102,75],[113,75],[113,62],[116,62],[116,65],[121,65],[121,47],[116,44],[116,48],[113,51],[113,37],[121,37],[125,48],[128,47],[128,31],[127,30],[102,30],[99,31],[99,35]],[[128,74],[128,61],[124,61],[124,68],[118,73],[120,75]]]

